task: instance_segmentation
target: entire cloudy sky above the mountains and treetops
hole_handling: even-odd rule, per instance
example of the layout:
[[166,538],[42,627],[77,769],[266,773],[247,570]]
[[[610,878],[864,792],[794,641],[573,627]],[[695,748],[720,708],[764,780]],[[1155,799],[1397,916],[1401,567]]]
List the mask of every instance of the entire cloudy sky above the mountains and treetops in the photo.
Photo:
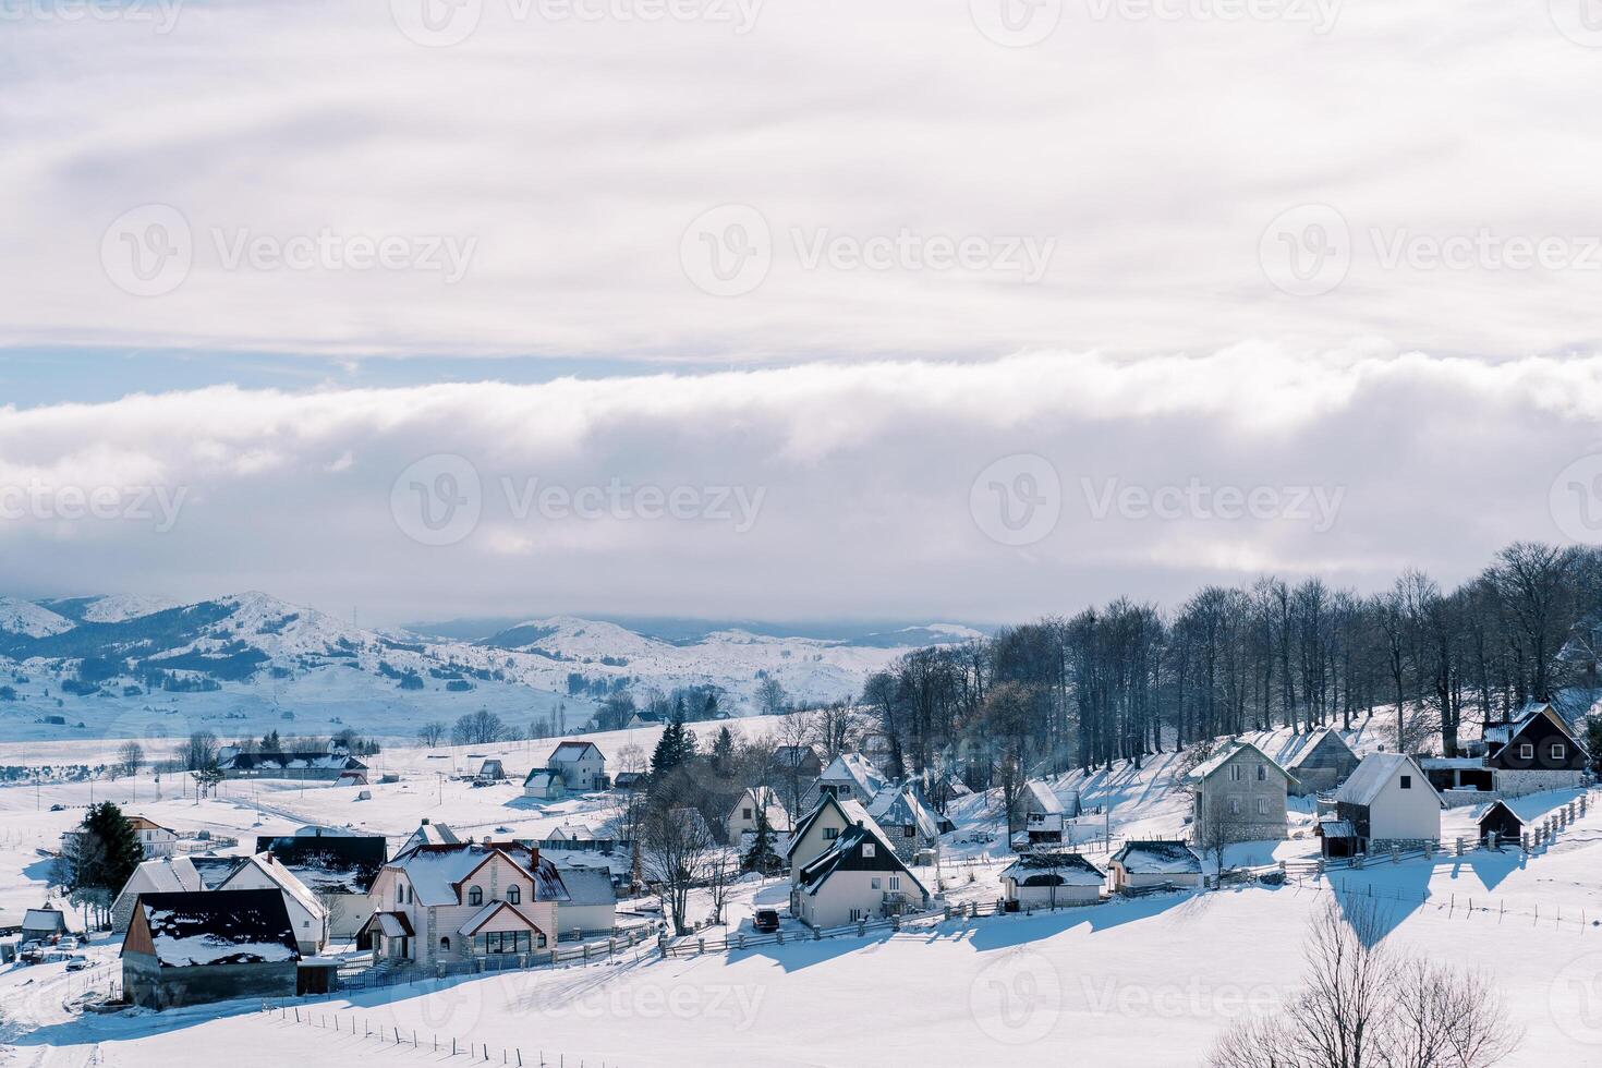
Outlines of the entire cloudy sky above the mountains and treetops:
[[1581,0],[0,0],[0,589],[1004,621],[1602,530]]

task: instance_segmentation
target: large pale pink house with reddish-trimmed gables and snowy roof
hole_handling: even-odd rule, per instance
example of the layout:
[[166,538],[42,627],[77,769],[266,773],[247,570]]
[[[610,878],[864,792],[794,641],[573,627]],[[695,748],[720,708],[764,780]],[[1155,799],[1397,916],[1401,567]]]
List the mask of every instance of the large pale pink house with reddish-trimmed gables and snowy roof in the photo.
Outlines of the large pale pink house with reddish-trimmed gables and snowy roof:
[[375,961],[421,967],[545,950],[569,900],[556,865],[514,842],[415,845],[383,866],[370,897],[362,937]]

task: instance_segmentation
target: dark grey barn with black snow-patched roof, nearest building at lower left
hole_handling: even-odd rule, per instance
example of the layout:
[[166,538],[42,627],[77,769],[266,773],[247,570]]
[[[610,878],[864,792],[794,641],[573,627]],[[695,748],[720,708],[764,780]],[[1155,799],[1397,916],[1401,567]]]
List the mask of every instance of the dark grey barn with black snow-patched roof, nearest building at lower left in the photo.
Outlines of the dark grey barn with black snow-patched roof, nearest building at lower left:
[[122,940],[122,988],[146,1009],[293,998],[300,959],[282,893],[143,893]]

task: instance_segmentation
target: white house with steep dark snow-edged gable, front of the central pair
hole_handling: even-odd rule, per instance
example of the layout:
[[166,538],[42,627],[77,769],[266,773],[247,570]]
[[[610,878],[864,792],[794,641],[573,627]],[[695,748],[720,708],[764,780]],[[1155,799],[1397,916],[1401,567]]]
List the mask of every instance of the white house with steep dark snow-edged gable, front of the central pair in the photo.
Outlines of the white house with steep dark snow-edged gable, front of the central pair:
[[828,849],[795,871],[793,900],[804,924],[839,927],[924,909],[931,898],[873,820],[865,818],[841,829]]

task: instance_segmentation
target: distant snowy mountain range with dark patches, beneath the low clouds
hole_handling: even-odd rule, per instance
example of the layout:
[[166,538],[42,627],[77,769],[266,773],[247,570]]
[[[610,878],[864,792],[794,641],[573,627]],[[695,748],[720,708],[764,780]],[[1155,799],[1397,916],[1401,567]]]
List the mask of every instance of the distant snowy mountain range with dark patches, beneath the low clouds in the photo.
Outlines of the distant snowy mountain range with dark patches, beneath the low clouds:
[[[0,737],[50,735],[128,709],[200,719],[409,733],[492,708],[514,722],[561,709],[578,725],[607,693],[706,685],[751,711],[764,677],[803,700],[860,693],[907,648],[966,640],[961,624],[841,624],[549,616],[360,629],[261,592],[176,604],[151,597],[0,597]],[[27,727],[27,730],[18,730]],[[244,729],[244,724],[240,724]]]

